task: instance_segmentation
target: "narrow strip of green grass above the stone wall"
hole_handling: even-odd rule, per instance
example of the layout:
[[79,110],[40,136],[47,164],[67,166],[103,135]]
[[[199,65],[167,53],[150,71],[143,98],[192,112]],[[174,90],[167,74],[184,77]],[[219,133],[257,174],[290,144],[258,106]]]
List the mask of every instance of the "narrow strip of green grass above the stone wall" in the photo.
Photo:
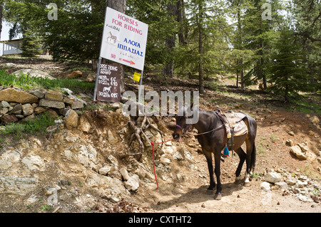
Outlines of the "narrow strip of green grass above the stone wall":
[[49,80],[47,78],[34,78],[30,75],[25,75],[21,73],[19,76],[9,75],[5,72],[5,70],[0,70],[0,84],[3,86],[11,86],[23,88],[24,90],[30,90],[31,88],[44,88],[51,90],[60,91],[61,88],[68,88],[70,90],[87,90],[93,89],[95,84],[83,82],[81,80],[74,79],[56,79]]

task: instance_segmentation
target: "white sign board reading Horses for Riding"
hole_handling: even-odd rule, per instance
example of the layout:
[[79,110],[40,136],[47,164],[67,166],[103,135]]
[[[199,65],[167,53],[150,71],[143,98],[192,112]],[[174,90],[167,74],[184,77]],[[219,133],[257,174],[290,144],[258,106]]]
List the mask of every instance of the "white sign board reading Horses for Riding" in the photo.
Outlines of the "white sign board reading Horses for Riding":
[[143,70],[148,25],[107,7],[101,58]]

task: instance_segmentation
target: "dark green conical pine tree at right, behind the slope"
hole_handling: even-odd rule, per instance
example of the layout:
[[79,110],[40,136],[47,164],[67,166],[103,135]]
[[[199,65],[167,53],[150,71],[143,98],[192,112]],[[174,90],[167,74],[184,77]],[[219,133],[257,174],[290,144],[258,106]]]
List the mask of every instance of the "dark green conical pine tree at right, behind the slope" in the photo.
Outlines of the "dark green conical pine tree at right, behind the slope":
[[292,36],[290,28],[282,28],[280,39],[275,42],[275,53],[270,64],[269,90],[282,95],[286,102],[298,97],[299,91],[307,88],[307,68],[305,54]]

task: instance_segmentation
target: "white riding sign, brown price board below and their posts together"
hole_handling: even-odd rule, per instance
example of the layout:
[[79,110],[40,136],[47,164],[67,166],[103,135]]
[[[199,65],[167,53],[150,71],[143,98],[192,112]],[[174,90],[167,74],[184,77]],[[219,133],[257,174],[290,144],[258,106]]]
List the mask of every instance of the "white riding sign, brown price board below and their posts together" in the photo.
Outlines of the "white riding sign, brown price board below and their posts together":
[[[94,101],[96,98],[102,102],[120,102],[121,100],[120,70],[109,70],[108,68],[115,69],[116,66],[101,64],[102,58],[141,70],[138,89],[138,101],[140,100],[147,33],[146,23],[107,7],[93,94]],[[108,75],[108,73],[111,74]]]

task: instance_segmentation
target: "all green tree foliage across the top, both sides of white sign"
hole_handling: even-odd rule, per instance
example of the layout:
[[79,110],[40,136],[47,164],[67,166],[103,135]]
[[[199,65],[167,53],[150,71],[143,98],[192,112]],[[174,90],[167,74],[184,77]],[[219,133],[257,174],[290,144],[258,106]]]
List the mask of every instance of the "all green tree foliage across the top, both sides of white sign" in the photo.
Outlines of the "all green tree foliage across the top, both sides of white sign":
[[[51,2],[58,6],[56,21],[47,18]],[[272,20],[262,18],[265,3]],[[8,0],[4,19],[13,25],[11,34],[24,33],[24,53],[36,54],[41,43],[55,60],[84,62],[98,58],[105,10],[106,1],[97,0]],[[176,75],[191,78],[237,73],[243,86],[270,81],[270,91],[286,100],[321,90],[320,12],[320,1],[313,0],[126,1],[126,14],[148,23],[146,70],[173,63]],[[288,51],[299,54],[285,63],[286,42],[278,39],[287,27],[294,45]]]

